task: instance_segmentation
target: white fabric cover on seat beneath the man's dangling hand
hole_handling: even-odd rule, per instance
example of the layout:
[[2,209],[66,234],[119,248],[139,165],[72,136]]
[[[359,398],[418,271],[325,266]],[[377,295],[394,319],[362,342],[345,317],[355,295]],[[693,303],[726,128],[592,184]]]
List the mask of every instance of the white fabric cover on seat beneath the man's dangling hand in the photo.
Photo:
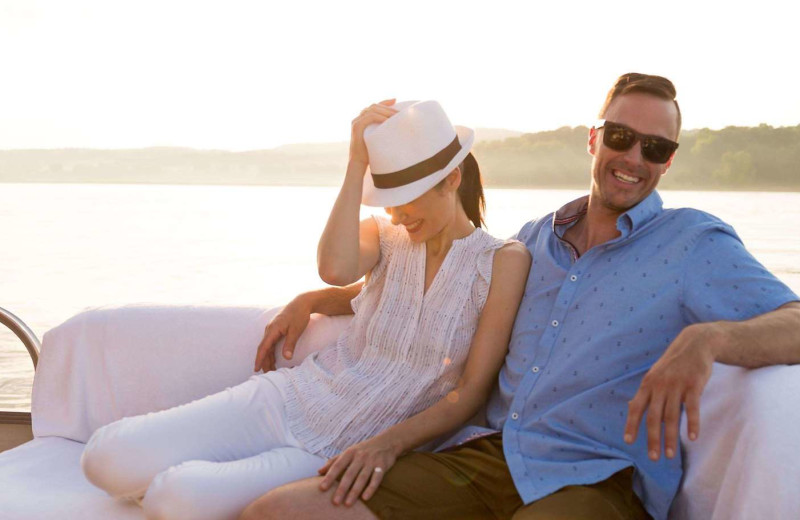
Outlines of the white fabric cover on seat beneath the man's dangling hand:
[[714,365],[671,518],[800,518],[800,365]]

